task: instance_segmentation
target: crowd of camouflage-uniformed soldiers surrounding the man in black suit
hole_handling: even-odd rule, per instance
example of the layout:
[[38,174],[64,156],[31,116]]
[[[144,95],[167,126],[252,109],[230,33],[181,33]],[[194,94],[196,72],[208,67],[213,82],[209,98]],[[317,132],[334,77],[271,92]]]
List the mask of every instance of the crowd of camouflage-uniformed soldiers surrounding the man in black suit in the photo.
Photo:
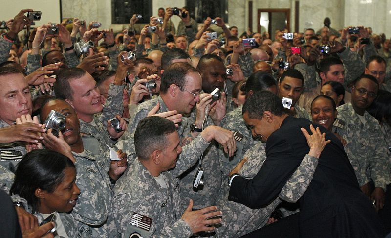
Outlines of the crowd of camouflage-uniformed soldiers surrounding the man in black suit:
[[[391,232],[384,34],[337,31],[326,18],[317,33],[239,36],[219,17],[198,26],[186,7],[160,8],[142,27],[135,14],[117,33],[78,18],[30,29],[35,14],[21,10],[0,37],[1,201],[11,198],[20,226],[4,234],[240,237],[281,224],[316,186],[330,142],[319,129],[298,130],[308,153],[284,174],[278,195],[262,206],[237,202],[235,176],[256,177],[268,158],[268,136],[243,119],[262,94],[338,138],[354,184],[377,213],[368,234]],[[177,30],[173,15],[181,19]],[[1,219],[12,226],[11,216]],[[275,235],[295,237],[291,229]]]

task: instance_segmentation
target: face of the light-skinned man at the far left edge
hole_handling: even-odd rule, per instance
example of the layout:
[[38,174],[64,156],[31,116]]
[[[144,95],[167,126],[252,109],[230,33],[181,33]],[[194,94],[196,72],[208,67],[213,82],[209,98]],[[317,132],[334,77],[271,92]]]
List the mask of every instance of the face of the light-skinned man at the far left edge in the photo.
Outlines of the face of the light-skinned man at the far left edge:
[[0,119],[11,125],[22,115],[31,115],[30,88],[22,73],[0,76]]

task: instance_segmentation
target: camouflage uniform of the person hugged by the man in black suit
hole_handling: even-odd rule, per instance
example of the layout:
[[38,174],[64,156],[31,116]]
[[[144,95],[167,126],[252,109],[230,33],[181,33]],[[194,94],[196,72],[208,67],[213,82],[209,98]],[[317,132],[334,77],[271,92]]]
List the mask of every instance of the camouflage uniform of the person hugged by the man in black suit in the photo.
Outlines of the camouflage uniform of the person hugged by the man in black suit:
[[[266,159],[265,143],[255,144],[247,150],[244,157],[247,157],[247,161],[240,169],[239,175],[251,179],[258,173]],[[317,165],[317,158],[306,155],[282,188],[279,197],[288,202],[296,202],[311,182]],[[227,186],[225,188],[228,189]],[[280,198],[276,198],[264,208],[250,209],[243,204],[228,201],[228,190],[225,192],[226,197],[217,204],[217,208],[223,212],[222,226],[215,230],[217,237],[240,237],[263,227],[281,202]]]

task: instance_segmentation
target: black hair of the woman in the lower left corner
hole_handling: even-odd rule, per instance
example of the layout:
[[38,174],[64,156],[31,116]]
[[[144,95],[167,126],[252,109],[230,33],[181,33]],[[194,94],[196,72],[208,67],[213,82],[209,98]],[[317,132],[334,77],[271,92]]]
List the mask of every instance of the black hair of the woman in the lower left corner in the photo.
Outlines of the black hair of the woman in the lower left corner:
[[68,157],[47,149],[33,150],[19,162],[10,194],[19,194],[26,199],[34,214],[40,205],[35,190],[40,188],[49,193],[53,192],[63,181],[67,167],[75,168]]

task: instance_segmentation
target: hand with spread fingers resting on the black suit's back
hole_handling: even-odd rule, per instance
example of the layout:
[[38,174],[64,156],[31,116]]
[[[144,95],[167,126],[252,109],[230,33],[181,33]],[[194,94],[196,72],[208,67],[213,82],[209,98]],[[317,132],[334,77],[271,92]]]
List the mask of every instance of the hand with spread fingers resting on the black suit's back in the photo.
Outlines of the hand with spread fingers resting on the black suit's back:
[[309,135],[305,128],[300,129],[305,136],[305,139],[307,139],[308,146],[310,147],[308,155],[319,158],[325,146],[331,141],[326,141],[326,133],[321,133],[319,127],[316,127],[315,129],[311,124],[309,129],[311,130],[312,135]]

